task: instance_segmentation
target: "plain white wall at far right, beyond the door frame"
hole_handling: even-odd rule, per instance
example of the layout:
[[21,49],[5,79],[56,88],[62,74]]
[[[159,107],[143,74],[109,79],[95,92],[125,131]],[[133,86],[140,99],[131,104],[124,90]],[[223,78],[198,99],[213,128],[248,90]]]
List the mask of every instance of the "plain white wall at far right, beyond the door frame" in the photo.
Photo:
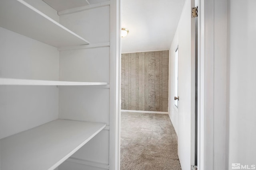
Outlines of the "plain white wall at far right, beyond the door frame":
[[[256,164],[256,1],[229,0],[229,162]],[[237,11],[243,11],[238,14]]]

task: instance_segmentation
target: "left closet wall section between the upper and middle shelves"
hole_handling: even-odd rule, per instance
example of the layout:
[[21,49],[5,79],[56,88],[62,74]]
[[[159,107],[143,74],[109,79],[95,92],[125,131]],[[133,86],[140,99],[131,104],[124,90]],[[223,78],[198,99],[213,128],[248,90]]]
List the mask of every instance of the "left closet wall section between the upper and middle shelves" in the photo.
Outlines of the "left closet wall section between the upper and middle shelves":
[[0,27],[0,77],[58,80],[59,52],[41,43]]

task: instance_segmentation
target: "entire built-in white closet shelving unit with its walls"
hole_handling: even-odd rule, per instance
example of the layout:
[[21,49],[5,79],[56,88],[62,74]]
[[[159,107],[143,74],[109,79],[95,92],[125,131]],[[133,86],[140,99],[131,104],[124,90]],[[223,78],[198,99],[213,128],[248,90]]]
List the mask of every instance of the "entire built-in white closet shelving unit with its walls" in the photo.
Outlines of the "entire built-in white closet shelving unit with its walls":
[[0,0],[0,170],[115,167],[118,3],[65,2]]

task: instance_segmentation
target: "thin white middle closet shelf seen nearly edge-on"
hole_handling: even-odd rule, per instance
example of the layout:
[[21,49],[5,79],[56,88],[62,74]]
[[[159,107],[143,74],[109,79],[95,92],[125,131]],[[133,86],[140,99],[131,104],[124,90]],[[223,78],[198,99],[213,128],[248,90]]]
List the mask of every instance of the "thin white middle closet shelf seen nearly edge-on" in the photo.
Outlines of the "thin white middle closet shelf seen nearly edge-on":
[[32,86],[94,86],[108,85],[107,82],[66,82],[51,80],[26,80],[14,78],[0,78],[0,85],[32,85]]

